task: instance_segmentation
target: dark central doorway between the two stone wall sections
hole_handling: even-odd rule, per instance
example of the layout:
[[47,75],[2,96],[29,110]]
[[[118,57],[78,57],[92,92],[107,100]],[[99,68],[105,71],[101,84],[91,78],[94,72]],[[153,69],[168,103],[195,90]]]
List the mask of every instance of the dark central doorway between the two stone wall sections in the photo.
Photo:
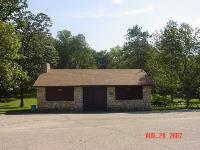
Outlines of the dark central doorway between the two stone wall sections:
[[83,88],[84,111],[107,110],[107,88],[104,86]]

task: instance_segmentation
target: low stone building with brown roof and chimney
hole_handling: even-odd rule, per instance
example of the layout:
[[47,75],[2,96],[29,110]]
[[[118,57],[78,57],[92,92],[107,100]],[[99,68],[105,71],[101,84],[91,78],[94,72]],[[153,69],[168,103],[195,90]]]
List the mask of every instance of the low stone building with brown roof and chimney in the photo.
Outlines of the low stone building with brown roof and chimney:
[[39,111],[151,110],[153,81],[141,69],[50,69],[36,80]]

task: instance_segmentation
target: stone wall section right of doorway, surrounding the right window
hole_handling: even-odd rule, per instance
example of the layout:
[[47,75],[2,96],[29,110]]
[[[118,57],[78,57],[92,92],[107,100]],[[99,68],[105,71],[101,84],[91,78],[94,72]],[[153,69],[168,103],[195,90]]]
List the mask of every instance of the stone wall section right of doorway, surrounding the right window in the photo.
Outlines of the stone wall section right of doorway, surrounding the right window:
[[143,87],[143,99],[138,100],[116,100],[115,87],[107,87],[107,109],[108,111],[136,111],[151,110],[151,87]]

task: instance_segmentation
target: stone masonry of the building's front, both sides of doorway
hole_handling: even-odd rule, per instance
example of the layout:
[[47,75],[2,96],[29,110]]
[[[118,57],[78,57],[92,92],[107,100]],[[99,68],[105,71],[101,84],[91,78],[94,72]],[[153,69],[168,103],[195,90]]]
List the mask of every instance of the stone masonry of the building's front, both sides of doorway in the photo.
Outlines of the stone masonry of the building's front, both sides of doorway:
[[[74,87],[74,101],[46,101],[44,87],[37,88],[39,111],[82,111],[83,88]],[[107,87],[107,110],[108,111],[136,111],[151,110],[151,87],[143,86],[143,99],[116,100],[115,87]]]

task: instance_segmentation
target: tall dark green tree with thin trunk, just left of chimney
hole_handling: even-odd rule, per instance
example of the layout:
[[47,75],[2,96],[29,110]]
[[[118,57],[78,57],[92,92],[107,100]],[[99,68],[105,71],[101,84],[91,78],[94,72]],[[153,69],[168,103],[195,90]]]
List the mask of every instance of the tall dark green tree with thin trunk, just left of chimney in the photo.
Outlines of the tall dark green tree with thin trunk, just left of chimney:
[[21,17],[19,21],[23,24],[18,24],[17,31],[21,35],[20,52],[24,59],[20,60],[19,63],[29,76],[29,80],[22,81],[20,86],[20,106],[23,107],[24,90],[29,90],[32,87],[45,62],[49,62],[52,66],[57,65],[58,53],[49,33],[49,27],[52,23],[47,15],[43,13],[34,15],[31,12],[26,12]]

